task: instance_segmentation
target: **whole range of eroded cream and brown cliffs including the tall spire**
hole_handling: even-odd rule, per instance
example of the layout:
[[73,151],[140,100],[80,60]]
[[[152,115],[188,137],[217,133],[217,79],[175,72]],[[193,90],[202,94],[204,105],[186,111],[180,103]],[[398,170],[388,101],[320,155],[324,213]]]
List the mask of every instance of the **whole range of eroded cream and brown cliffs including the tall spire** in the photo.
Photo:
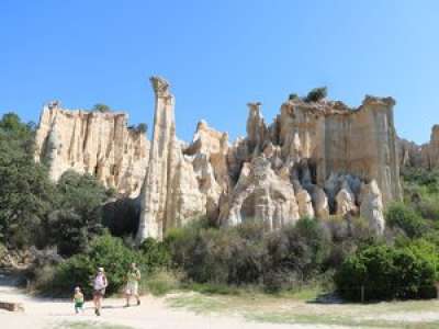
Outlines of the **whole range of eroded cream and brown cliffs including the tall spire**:
[[[301,217],[361,215],[383,232],[383,204],[402,196],[393,99],[365,97],[361,106],[349,109],[294,98],[270,125],[261,104],[249,103],[247,137],[229,145],[226,133],[201,121],[185,144],[176,136],[169,83],[159,77],[150,81],[150,144],[125,128],[123,114],[57,106],[44,110],[37,134],[37,155],[49,158],[54,179],[74,168],[120,191],[133,193],[142,184],[138,243],[161,239],[200,216],[222,226],[260,220],[271,230]],[[435,133],[428,156],[419,156],[423,161],[434,163],[438,137]]]

